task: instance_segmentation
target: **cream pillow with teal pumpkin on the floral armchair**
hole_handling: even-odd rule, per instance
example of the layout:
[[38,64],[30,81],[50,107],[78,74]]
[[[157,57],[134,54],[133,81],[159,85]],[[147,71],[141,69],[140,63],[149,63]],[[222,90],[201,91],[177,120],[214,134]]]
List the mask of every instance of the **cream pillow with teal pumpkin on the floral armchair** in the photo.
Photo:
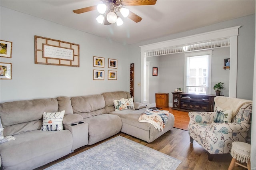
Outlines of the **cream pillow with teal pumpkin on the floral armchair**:
[[214,115],[214,123],[230,123],[232,119],[232,110],[225,110],[217,107]]

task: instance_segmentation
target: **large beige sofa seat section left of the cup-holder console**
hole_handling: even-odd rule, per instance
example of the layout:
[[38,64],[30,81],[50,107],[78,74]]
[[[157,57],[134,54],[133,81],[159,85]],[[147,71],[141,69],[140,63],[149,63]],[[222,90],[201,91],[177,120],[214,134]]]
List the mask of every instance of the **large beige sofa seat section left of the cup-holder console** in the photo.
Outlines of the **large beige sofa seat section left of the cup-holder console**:
[[34,130],[14,135],[15,140],[1,144],[3,169],[34,169],[71,152],[69,130]]

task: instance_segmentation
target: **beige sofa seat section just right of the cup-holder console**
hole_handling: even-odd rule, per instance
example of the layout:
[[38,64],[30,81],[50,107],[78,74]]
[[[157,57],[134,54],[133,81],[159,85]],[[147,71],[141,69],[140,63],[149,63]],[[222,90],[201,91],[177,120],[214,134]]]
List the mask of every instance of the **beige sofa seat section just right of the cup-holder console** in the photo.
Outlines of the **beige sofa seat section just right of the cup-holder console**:
[[84,119],[88,123],[88,144],[94,144],[120,132],[122,120],[117,115],[103,114]]

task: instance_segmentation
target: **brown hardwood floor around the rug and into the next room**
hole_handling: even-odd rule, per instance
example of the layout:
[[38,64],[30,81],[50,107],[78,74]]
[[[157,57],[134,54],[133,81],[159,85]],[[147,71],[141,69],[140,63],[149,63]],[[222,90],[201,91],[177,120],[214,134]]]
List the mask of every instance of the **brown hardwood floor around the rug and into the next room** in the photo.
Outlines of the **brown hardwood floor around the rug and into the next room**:
[[[164,108],[163,108],[164,109]],[[46,164],[45,166],[42,166],[40,168],[37,168],[37,170],[41,170],[44,168],[47,168],[53,164],[56,164],[57,162],[61,162],[62,160],[65,160],[67,158],[70,158],[71,156],[74,156],[80,152],[83,152],[85,150],[88,150],[94,146],[97,146],[98,144],[101,144],[111,138],[114,138],[118,135],[123,136],[125,138],[128,138],[130,140],[133,140],[135,142],[138,142],[140,144],[143,144],[145,146],[148,146],[150,148],[153,148],[155,150],[158,150],[159,152],[162,152],[164,154],[167,154],[169,156],[172,156],[174,158],[177,158],[181,160],[182,162],[178,166],[177,170],[227,170],[228,166],[230,164],[230,161],[232,157],[230,154],[218,154],[217,156],[214,156],[212,161],[208,160],[208,154],[207,152],[195,141],[193,144],[190,143],[190,137],[188,135],[188,131],[181,130],[180,128],[187,128],[189,119],[186,117],[188,114],[187,112],[180,112],[176,110],[172,110],[171,108],[169,112],[174,114],[175,117],[175,123],[174,126],[177,128],[172,128],[172,130],[169,130],[156,140],[154,140],[151,143],[147,143],[143,140],[140,140],[138,138],[135,138],[133,136],[130,136],[128,134],[125,134],[123,132],[119,132],[118,134],[103,140],[101,142],[98,142],[93,145],[87,145],[83,146],[81,148],[78,148],[74,150],[74,152],[70,153],[67,156],[64,156],[60,158],[59,160],[56,160],[54,162],[51,162],[49,164]],[[186,125],[180,125],[180,124],[186,124]],[[246,170],[242,167],[234,167],[234,170]]]

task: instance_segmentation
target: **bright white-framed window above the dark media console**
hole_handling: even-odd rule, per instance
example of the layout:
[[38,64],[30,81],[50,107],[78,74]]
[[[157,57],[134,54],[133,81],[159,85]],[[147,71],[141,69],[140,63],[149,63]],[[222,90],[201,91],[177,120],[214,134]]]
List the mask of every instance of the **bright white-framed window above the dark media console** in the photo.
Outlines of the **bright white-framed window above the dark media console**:
[[212,51],[185,53],[184,91],[210,94]]

